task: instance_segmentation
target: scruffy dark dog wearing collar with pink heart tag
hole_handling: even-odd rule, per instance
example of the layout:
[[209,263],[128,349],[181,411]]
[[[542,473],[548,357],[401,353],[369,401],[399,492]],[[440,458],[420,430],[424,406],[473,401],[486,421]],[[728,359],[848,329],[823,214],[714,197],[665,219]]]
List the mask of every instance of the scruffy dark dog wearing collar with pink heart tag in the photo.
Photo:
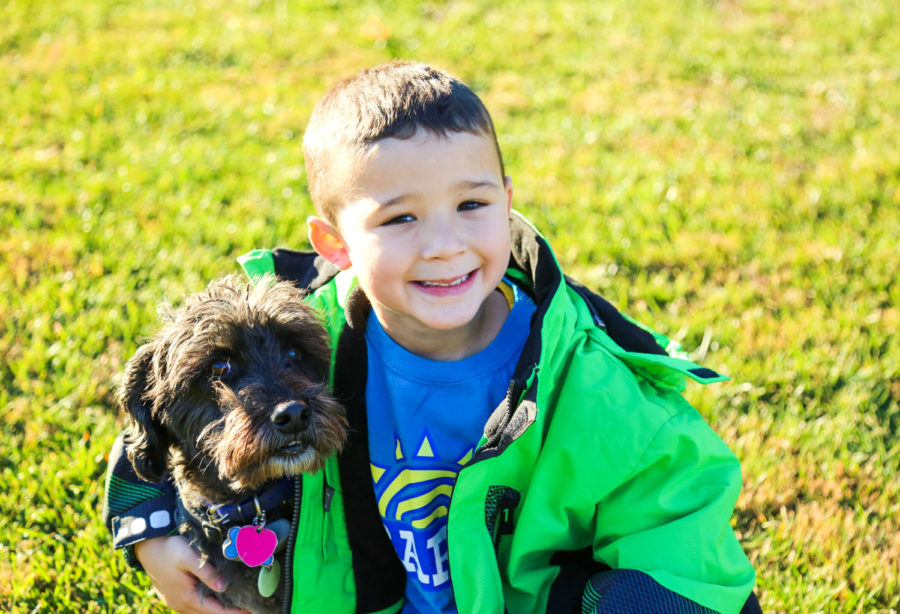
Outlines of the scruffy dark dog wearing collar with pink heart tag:
[[[148,481],[171,472],[179,530],[228,583],[226,606],[275,612],[294,509],[292,476],[346,439],[325,378],[328,335],[300,291],[267,278],[212,282],[128,362],[119,391],[128,451]],[[279,518],[280,517],[280,518]]]

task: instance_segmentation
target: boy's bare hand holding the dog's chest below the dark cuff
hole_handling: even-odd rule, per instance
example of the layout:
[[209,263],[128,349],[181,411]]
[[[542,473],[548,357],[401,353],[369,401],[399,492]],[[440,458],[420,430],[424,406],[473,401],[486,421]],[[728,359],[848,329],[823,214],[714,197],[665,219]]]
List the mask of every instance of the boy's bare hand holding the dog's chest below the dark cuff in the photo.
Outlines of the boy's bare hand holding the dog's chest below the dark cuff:
[[134,554],[150,576],[156,592],[168,607],[180,614],[248,614],[226,608],[216,599],[202,599],[197,582],[221,591],[221,579],[209,563],[200,564],[200,555],[181,535],[155,537],[134,546]]

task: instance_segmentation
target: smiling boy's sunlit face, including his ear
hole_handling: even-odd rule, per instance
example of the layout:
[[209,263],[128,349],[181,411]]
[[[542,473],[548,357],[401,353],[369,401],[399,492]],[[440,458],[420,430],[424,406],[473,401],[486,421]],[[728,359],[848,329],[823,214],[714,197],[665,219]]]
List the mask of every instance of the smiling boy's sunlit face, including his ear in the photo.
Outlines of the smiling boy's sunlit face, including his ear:
[[421,344],[439,331],[494,328],[486,299],[509,262],[512,186],[493,141],[419,130],[374,144],[349,177],[337,228],[313,219],[310,238],[320,254],[353,267],[385,330],[428,353]]

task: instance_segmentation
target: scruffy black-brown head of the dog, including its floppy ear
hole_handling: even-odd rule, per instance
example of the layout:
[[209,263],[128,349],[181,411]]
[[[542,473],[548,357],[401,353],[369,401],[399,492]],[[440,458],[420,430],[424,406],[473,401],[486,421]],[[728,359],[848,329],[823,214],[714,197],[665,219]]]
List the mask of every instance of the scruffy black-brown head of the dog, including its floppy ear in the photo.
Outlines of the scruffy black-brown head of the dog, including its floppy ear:
[[325,384],[328,335],[301,298],[285,281],[232,276],[161,310],[119,391],[138,475],[160,479],[171,451],[191,479],[244,492],[315,471],[340,449],[347,423]]

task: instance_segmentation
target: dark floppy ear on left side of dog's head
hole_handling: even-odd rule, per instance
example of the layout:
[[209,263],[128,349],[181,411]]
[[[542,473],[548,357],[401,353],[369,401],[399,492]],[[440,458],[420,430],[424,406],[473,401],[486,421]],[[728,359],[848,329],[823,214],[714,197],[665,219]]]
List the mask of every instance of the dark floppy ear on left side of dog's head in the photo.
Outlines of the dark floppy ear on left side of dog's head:
[[128,413],[125,438],[128,460],[135,473],[148,482],[158,482],[166,470],[169,440],[165,427],[153,417],[147,391],[151,386],[156,343],[138,348],[125,366],[119,386],[119,406]]

